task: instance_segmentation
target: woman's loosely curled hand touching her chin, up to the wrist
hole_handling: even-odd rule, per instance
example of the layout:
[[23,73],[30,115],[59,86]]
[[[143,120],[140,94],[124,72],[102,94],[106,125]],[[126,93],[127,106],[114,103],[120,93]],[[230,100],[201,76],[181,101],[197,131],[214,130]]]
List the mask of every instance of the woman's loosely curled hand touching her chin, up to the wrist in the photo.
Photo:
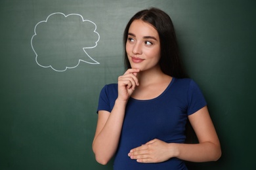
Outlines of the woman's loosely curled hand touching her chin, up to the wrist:
[[118,77],[118,99],[127,101],[136,86],[139,86],[137,74],[139,69],[128,69],[123,75]]

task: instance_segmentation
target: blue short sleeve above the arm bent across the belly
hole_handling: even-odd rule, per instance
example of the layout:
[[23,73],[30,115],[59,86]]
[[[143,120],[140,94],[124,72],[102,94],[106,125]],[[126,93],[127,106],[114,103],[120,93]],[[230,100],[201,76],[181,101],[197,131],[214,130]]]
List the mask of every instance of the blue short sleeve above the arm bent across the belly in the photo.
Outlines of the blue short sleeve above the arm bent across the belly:
[[188,115],[197,112],[207,105],[202,91],[194,80],[190,81],[188,88]]

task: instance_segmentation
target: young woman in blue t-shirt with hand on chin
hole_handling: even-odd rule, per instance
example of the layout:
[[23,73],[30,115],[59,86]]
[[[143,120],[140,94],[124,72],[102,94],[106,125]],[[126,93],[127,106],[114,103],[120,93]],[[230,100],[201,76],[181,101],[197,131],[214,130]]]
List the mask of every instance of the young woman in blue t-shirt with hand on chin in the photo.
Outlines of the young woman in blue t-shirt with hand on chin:
[[[93,151],[114,169],[186,169],[216,161],[221,146],[198,85],[185,78],[171,18],[135,14],[124,31],[127,71],[100,92]],[[185,144],[190,121],[199,143]]]

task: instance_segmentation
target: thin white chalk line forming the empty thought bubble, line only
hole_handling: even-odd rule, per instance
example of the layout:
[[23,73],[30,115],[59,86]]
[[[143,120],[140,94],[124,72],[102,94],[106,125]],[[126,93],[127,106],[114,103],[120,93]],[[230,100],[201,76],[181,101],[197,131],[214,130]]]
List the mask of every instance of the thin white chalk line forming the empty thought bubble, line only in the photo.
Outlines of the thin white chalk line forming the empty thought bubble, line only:
[[[80,16],[80,17],[82,18],[83,22],[91,22],[92,24],[95,25],[95,30],[94,30],[93,32],[98,35],[98,40],[95,42],[95,46],[83,47],[83,51],[85,52],[85,54],[87,54],[87,56],[88,56],[90,59],[92,59],[93,61],[95,61],[95,63],[92,63],[92,62],[89,62],[89,61],[85,61],[85,60],[83,60],[83,59],[78,59],[77,65],[75,65],[74,67],[66,67],[66,69],[64,69],[64,70],[57,70],[57,69],[54,69],[52,65],[44,66],[44,65],[39,64],[39,62],[37,61],[37,57],[38,57],[37,52],[35,52],[35,49],[33,48],[33,37],[35,37],[35,36],[37,35],[37,33],[36,33],[37,25],[41,24],[42,22],[47,22],[48,19],[49,19],[51,16],[53,16],[54,14],[62,14],[63,16],[65,16],[65,18],[67,18],[68,16],[71,16],[71,15]],[[98,45],[97,42],[100,41],[100,34],[99,34],[98,32],[96,32],[96,29],[97,29],[97,25],[96,25],[94,22],[92,22],[91,20],[84,20],[84,19],[83,19],[83,16],[81,16],[80,14],[68,14],[68,15],[65,15],[65,14],[62,13],[62,12],[54,12],[54,13],[50,14],[49,16],[47,16],[46,20],[43,20],[43,21],[41,21],[41,22],[38,22],[38,23],[35,25],[35,27],[34,27],[34,35],[32,36],[32,39],[31,39],[31,46],[32,46],[33,52],[35,53],[35,61],[36,61],[37,65],[39,65],[39,66],[41,66],[41,67],[43,67],[43,68],[49,68],[49,67],[51,67],[51,69],[53,69],[54,71],[62,72],[62,71],[66,71],[67,69],[74,69],[75,67],[77,67],[77,66],[79,65],[79,63],[80,63],[81,61],[83,61],[83,62],[85,62],[85,63],[89,63],[89,64],[100,64],[98,61],[96,61],[95,59],[91,58],[91,56],[89,56],[89,54],[85,51],[85,49],[95,48],[95,47]]]

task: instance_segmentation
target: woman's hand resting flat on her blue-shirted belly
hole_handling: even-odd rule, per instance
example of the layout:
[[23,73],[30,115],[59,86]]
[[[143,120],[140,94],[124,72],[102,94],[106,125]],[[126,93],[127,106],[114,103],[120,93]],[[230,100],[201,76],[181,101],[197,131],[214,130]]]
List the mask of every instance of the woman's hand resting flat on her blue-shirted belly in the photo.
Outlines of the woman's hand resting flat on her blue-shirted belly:
[[158,163],[169,160],[173,154],[169,148],[169,143],[154,139],[137,148],[133,148],[128,156],[140,163]]

